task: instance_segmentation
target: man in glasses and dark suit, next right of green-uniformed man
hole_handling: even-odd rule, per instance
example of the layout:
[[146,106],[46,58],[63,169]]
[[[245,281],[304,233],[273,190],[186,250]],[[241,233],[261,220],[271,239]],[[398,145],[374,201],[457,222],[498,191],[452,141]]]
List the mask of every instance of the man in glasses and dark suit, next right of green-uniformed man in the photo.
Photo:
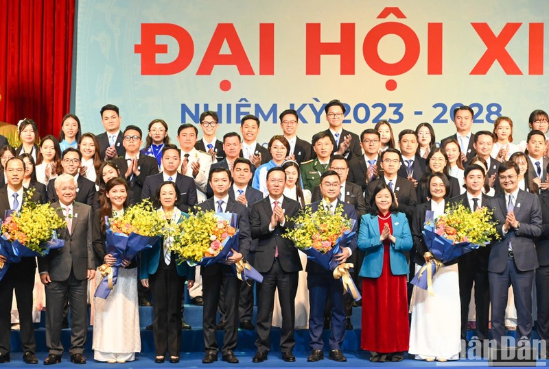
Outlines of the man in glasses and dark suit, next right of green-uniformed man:
[[381,157],[379,157],[379,132],[373,128],[364,129],[360,133],[360,146],[364,155],[355,156],[349,160],[349,182],[358,184],[362,192],[366,191],[368,183],[379,178],[381,173]]

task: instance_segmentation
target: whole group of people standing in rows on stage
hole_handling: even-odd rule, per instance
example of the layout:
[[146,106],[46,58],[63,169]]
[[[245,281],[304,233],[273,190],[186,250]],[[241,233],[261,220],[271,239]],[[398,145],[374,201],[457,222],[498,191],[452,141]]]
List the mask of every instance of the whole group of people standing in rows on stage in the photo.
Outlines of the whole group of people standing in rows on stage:
[[[476,334],[491,336],[500,346],[505,335],[509,286],[517,310],[517,339],[530,340],[533,329],[533,285],[537,291],[537,331],[549,335],[549,175],[546,142],[549,116],[530,114],[525,142],[513,143],[513,122],[495,120],[493,131],[471,132],[474,112],[454,111],[456,134],[438,144],[434,129],[393,133],[385,120],[360,136],[342,128],[345,106],[325,105],[328,129],[312,142],[296,136],[299,114],[279,116],[281,134],[268,146],[257,142],[260,120],[242,118],[240,134],[218,140],[215,112],[200,115],[197,125],[182,124],[172,144],[164,120],[148,125],[146,137],[136,125],[121,129],[119,108],[101,110],[105,131],[82,133],[73,114],[62,119],[59,138],[38,139],[33,120],[19,123],[21,146],[0,142],[0,216],[27,201],[51,203],[65,218],[58,232],[62,249],[45,257],[23,258],[0,281],[0,364],[10,361],[10,309],[15,292],[21,325],[23,361],[36,364],[32,326],[34,276],[38,265],[46,295],[44,364],[61,361],[60,336],[67,305],[71,312],[71,346],[75,364],[85,364],[87,301],[102,278],[97,267],[114,266],[106,251],[106,217],[124,213],[132,203],[151,199],[170,222],[194,212],[237,214],[239,249],[223,263],[191,267],[177,262],[170,238],[157,242],[136,259],[126,259],[115,289],[106,299],[93,299],[94,359],[123,363],[141,351],[138,306],[152,297],[155,361],[180,360],[185,284],[194,303],[203,305],[205,357],[236,364],[237,330],[257,331],[262,362],[270,352],[270,330],[281,327],[284,361],[295,361],[294,330],[308,327],[307,361],[324,359],[323,329],[331,328],[329,359],[347,361],[342,352],[345,331],[353,329],[352,307],[360,301],[344,293],[342,281],[312,261],[284,238],[292,218],[304,207],[334,214],[341,205],[353,222],[355,237],[334,256],[353,263],[353,280],[362,285],[361,348],[370,361],[416,359],[447,361],[460,357],[467,340],[467,320],[474,285]],[[242,135],[242,136],[241,136]],[[38,144],[37,144],[38,142]],[[144,144],[143,144],[144,143]],[[397,149],[397,147],[399,149]],[[444,214],[447,204],[472,210],[489,207],[500,240],[444,264],[432,279],[433,294],[410,288],[407,281],[434,259],[421,231],[425,213]],[[257,317],[253,325],[254,285],[237,279],[232,264],[249,262],[261,275],[256,285]],[[5,258],[0,256],[0,262]],[[491,307],[491,316],[490,316]],[[220,313],[220,322],[216,314]],[[411,311],[411,320],[409,318]],[[224,329],[221,348],[215,331]]]

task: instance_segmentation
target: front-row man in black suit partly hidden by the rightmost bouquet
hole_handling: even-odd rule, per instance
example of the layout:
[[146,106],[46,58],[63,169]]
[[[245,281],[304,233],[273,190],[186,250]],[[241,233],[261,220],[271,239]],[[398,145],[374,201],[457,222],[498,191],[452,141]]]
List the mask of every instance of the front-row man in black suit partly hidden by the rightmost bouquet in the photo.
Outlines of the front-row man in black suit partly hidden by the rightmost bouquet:
[[[478,137],[478,136],[477,136]],[[487,207],[490,196],[482,193],[486,174],[484,168],[472,164],[465,168],[465,186],[467,192],[449,199],[450,204],[461,203],[475,211],[478,207]],[[475,283],[476,334],[483,342],[488,339],[490,311],[490,290],[488,282],[488,258],[490,247],[479,247],[458,259],[459,295],[461,301],[461,339],[467,342],[467,317],[471,290]]]

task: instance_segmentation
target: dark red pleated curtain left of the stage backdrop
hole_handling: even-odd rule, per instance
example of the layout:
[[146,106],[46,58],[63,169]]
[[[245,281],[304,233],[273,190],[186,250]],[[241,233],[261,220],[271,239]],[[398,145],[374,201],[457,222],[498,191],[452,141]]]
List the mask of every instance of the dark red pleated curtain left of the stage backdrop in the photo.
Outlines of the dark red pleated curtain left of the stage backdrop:
[[71,103],[75,0],[0,0],[0,121],[58,136]]

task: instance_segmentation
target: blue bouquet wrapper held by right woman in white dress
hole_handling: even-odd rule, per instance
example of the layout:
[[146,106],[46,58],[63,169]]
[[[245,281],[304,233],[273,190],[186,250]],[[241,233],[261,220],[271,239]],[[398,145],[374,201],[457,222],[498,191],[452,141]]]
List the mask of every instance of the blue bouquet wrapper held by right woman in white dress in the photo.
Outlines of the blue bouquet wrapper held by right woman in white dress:
[[[432,212],[432,210],[428,210],[425,214],[425,225],[423,225],[423,240],[425,241],[425,245],[427,245],[430,253],[433,254],[434,259],[438,260],[442,264],[451,262],[461,255],[470,253],[480,247],[480,245],[471,244],[471,242],[460,242],[458,244],[454,244],[453,240],[448,240],[444,236],[436,234],[434,230],[434,212]],[[436,270],[439,269],[439,266],[437,266],[436,263],[430,264],[432,275],[435,275]],[[429,283],[428,273],[424,272],[425,269],[428,268],[426,265],[426,263],[423,264],[421,270],[419,270],[412,281],[410,281],[412,285],[417,285],[419,288],[423,288],[423,290],[428,289]]]

